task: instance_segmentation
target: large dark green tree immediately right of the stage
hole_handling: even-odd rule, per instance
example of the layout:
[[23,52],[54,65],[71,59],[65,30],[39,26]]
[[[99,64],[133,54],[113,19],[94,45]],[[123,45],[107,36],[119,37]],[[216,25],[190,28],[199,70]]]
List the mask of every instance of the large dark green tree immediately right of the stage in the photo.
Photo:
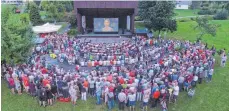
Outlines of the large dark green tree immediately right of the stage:
[[172,19],[175,15],[173,10],[174,2],[171,1],[140,1],[139,16],[144,21],[145,26],[151,30],[176,31],[176,21]]

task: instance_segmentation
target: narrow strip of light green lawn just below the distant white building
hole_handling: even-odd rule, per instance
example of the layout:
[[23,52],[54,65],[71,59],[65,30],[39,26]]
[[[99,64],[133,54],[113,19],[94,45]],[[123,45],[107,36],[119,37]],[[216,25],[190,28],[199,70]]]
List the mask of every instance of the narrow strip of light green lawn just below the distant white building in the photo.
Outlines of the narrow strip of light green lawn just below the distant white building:
[[175,9],[176,17],[187,17],[187,16],[197,16],[199,10],[184,10],[184,9]]

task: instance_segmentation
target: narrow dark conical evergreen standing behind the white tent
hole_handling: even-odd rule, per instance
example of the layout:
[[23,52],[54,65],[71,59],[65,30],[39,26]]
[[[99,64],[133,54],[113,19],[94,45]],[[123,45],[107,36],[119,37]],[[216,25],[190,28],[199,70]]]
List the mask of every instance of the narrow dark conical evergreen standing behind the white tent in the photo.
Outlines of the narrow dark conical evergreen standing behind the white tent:
[[35,3],[29,3],[29,17],[30,17],[30,21],[32,22],[33,25],[40,25],[42,24],[42,20],[41,20],[41,16],[39,13],[39,8]]

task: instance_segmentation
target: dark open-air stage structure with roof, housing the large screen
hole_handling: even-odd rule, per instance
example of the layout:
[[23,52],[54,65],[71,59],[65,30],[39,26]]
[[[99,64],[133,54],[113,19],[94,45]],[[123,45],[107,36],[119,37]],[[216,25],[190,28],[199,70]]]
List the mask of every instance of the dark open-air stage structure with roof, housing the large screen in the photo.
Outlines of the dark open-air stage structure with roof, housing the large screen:
[[123,36],[134,33],[138,1],[74,1],[81,36]]

